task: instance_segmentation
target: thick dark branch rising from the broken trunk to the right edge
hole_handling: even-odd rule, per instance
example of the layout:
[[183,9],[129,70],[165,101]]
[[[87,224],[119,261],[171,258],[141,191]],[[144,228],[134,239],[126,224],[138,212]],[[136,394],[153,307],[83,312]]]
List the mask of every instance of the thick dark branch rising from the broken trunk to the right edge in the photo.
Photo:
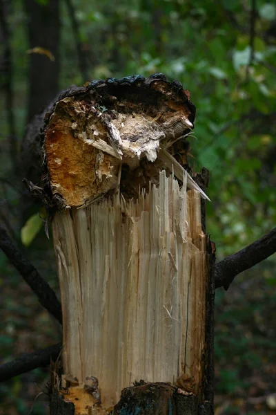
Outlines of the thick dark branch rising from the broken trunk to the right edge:
[[276,228],[246,248],[220,261],[215,266],[215,288],[223,286],[228,290],[236,275],[259,264],[275,252]]

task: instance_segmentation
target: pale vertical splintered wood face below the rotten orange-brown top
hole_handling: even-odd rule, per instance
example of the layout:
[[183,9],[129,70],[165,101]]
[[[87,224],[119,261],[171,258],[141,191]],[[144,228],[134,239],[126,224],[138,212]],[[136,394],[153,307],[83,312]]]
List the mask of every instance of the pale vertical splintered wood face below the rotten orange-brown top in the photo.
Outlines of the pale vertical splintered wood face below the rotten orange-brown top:
[[206,236],[183,174],[182,187],[162,171],[135,201],[118,191],[52,221],[63,373],[97,378],[103,407],[141,379],[202,398]]

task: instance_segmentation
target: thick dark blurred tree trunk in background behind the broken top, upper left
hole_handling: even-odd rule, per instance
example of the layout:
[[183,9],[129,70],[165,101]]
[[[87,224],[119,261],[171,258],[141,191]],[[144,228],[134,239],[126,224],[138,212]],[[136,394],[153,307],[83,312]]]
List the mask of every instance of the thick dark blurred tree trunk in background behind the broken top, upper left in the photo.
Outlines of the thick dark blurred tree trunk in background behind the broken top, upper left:
[[35,0],[24,0],[28,16],[28,39],[30,49],[45,48],[55,57],[55,62],[46,55],[30,53],[29,96],[27,124],[43,111],[59,90],[59,0],[48,0],[41,4]]

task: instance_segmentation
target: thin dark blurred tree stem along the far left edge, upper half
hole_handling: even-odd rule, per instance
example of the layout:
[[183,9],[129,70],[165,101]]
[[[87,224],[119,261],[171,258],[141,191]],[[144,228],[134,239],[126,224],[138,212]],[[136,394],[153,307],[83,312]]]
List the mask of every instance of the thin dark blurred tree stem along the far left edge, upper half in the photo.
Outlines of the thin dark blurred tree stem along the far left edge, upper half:
[[[8,5],[8,2],[7,2]],[[3,84],[1,87],[6,96],[6,111],[9,129],[10,159],[17,168],[17,136],[15,132],[15,120],[13,111],[13,91],[12,91],[12,51],[10,47],[10,30],[7,19],[7,5],[4,0],[0,0],[0,39],[3,44]]]

